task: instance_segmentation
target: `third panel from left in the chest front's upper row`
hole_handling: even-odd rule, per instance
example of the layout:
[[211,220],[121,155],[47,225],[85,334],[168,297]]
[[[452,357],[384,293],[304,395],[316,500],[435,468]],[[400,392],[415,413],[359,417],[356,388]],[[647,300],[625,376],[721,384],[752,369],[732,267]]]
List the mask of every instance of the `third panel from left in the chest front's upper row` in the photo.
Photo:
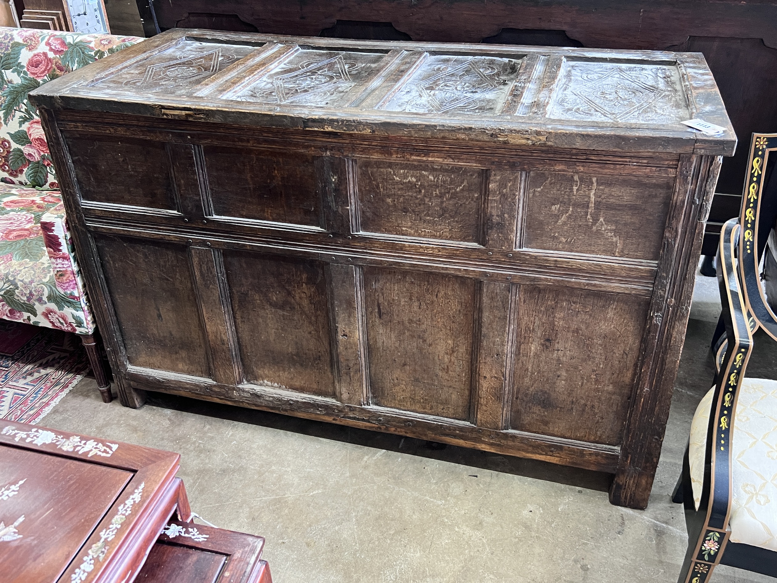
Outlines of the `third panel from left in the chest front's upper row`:
[[485,174],[471,166],[358,160],[360,230],[480,244]]

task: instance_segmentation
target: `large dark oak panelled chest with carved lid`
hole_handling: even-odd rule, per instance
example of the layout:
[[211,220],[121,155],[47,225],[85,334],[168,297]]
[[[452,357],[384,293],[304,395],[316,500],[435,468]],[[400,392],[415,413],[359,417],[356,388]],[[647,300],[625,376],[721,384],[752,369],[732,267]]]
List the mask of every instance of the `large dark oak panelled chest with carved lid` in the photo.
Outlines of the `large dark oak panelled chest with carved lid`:
[[30,98],[124,405],[545,459],[646,506],[736,144],[699,54],[171,30]]

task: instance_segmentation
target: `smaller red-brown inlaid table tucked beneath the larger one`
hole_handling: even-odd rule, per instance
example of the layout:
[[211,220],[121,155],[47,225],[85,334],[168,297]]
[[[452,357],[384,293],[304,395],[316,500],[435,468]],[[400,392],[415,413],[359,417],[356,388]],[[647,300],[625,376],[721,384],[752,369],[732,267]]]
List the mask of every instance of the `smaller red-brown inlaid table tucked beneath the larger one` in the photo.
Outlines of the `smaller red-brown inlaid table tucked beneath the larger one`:
[[136,583],[271,583],[264,539],[171,521],[148,553]]

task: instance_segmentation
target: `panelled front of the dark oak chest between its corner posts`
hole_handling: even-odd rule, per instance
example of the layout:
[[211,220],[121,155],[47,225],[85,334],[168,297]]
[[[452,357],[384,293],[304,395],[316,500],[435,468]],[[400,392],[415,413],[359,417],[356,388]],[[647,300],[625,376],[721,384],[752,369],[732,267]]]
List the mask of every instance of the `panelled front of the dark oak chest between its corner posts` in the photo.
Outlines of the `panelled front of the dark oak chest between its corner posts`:
[[678,156],[78,115],[61,132],[131,368],[618,445]]

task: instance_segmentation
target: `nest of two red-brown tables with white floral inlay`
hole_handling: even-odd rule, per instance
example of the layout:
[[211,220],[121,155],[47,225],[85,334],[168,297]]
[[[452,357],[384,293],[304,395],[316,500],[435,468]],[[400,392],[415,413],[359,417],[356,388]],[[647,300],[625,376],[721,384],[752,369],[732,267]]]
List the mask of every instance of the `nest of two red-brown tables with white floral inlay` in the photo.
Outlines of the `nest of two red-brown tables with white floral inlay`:
[[272,583],[263,538],[190,522],[179,458],[0,422],[2,583]]

